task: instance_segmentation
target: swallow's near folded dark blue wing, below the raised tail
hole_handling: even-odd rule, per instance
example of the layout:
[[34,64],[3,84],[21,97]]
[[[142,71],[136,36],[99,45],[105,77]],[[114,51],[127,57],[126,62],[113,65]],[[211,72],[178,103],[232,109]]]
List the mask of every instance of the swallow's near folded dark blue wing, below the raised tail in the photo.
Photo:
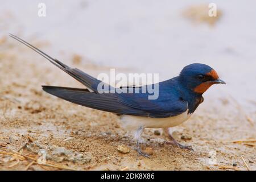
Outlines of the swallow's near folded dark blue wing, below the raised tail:
[[[123,99],[117,93],[94,93],[87,89],[43,86],[43,90],[63,100],[117,114],[138,115],[152,118],[166,118],[187,110],[184,102],[172,102],[171,107],[141,98],[137,102]],[[127,94],[126,96],[130,96]],[[127,97],[128,98],[128,97]],[[138,98],[137,98],[138,99]],[[170,102],[171,103],[171,102]],[[149,109],[150,108],[150,109]]]

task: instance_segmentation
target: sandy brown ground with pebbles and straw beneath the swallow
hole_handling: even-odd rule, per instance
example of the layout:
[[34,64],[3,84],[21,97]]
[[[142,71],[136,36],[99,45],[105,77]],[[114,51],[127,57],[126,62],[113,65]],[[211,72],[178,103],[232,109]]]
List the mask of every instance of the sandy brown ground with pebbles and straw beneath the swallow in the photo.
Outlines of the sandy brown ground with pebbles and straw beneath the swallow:
[[[49,46],[32,43],[42,49]],[[1,170],[247,170],[246,164],[256,169],[255,112],[246,119],[232,98],[212,101],[218,107],[203,103],[189,121],[174,128],[174,137],[195,151],[167,144],[162,130],[148,129],[142,148],[151,157],[144,158],[134,150],[132,134],[119,126],[116,115],[60,100],[40,86],[82,88],[79,82],[8,37],[0,44]],[[60,53],[58,58],[93,76],[109,70],[84,58],[80,61],[79,56]],[[191,139],[181,139],[182,135]],[[254,140],[232,142],[242,139]],[[120,145],[130,152],[118,152]],[[41,163],[44,154],[46,165]]]

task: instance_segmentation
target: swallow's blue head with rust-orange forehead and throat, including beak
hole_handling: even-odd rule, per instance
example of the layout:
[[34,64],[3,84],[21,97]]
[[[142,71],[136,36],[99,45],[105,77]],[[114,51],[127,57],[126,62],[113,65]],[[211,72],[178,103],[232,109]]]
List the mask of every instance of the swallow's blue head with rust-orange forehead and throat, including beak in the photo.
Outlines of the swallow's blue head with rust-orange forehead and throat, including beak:
[[182,69],[179,75],[182,85],[193,92],[203,94],[213,84],[226,84],[217,72],[206,64],[189,64]]

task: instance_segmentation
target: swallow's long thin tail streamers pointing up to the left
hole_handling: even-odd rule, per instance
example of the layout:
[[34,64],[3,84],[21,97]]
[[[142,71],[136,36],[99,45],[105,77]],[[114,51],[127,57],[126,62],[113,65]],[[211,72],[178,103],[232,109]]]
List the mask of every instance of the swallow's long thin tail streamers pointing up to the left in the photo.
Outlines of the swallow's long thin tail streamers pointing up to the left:
[[[30,43],[27,43],[25,40],[18,38],[18,36],[10,34],[10,37],[15,40],[18,40],[20,43],[26,45],[27,47],[31,48],[35,52],[39,53],[39,55],[43,56],[52,64],[56,65],[56,67],[68,73],[68,75],[72,76],[77,81],[81,82],[81,84],[85,85],[88,89],[92,90],[93,92],[97,92],[98,84],[100,84],[101,82],[100,80],[97,80],[96,78],[88,75],[87,73],[82,72],[80,69],[68,67],[68,65],[61,63],[61,61],[57,59],[53,59],[51,56],[47,55],[40,49],[32,46]],[[110,86],[109,89],[113,89],[112,86]]]

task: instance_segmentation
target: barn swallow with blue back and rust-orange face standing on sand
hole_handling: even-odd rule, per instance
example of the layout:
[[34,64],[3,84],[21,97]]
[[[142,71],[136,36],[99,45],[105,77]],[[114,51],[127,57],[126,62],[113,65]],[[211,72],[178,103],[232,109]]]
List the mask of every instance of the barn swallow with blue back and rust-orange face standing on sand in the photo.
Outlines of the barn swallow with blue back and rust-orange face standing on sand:
[[139,146],[145,128],[163,128],[172,140],[172,144],[180,148],[192,149],[191,146],[178,143],[168,129],[180,125],[191,117],[204,101],[202,95],[210,86],[226,84],[213,68],[194,63],[184,67],[179,76],[159,82],[159,96],[155,100],[148,100],[148,93],[98,93],[97,86],[101,83],[100,80],[80,69],[68,67],[15,35],[10,34],[10,36],[42,55],[87,88],[42,86],[45,92],[74,104],[120,115],[122,126],[135,131],[138,153],[146,157],[148,155],[142,152]]

